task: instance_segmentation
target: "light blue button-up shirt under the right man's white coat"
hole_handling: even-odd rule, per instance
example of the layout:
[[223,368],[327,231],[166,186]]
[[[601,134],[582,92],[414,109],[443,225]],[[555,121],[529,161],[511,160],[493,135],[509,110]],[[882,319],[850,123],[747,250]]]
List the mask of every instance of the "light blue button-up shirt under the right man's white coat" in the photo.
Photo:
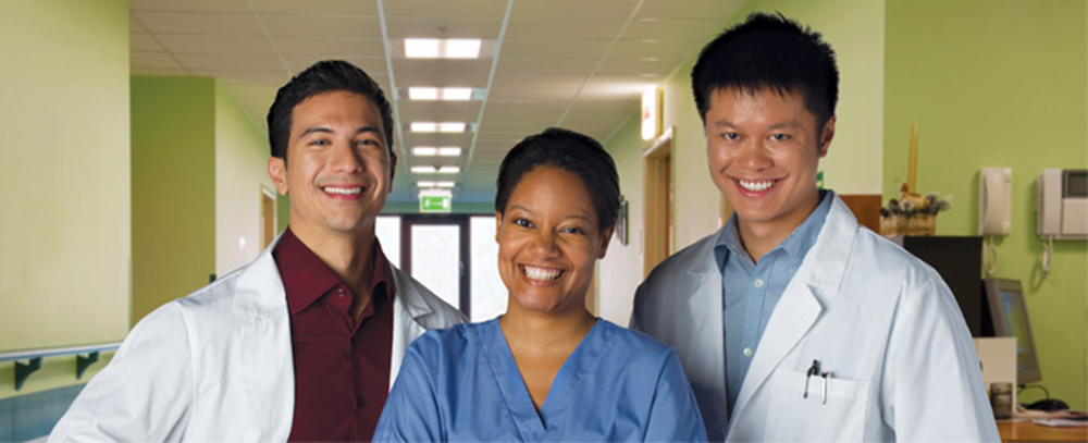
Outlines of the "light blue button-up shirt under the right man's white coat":
[[834,200],[833,190],[820,190],[820,201],[808,218],[778,246],[756,263],[744,249],[737,231],[737,214],[721,227],[714,245],[714,257],[721,270],[726,334],[726,402],[730,414],[759,339],[782,298],[786,286],[801,268],[808,249],[824,229],[824,221]]

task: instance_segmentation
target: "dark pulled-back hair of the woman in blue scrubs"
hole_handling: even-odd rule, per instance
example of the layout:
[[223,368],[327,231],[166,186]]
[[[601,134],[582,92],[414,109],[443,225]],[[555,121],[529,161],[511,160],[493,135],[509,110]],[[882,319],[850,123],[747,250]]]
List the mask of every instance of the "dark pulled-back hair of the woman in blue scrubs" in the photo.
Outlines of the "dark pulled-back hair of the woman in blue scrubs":
[[506,204],[526,174],[537,168],[571,172],[582,180],[593,198],[599,231],[616,225],[619,213],[619,174],[616,162],[597,140],[559,127],[530,135],[518,143],[498,167],[495,211],[506,213]]

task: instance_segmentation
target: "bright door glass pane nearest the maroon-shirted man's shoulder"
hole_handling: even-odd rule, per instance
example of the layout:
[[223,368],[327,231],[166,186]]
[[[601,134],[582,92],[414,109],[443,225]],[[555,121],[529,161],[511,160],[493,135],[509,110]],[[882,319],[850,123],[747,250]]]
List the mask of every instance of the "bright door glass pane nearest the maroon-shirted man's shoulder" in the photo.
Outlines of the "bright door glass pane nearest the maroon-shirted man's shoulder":
[[411,226],[411,276],[431,292],[460,309],[460,226],[413,224]]

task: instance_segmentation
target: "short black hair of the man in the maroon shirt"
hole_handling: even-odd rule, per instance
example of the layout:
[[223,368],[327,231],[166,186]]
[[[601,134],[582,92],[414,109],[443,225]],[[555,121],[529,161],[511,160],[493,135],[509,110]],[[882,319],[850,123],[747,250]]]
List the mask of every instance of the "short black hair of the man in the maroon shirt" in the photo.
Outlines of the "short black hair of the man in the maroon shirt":
[[324,60],[298,73],[275,95],[269,109],[269,144],[272,157],[287,158],[290,139],[290,112],[298,103],[323,93],[345,90],[370,99],[382,115],[385,144],[393,156],[393,110],[382,87],[358,66],[343,60]]

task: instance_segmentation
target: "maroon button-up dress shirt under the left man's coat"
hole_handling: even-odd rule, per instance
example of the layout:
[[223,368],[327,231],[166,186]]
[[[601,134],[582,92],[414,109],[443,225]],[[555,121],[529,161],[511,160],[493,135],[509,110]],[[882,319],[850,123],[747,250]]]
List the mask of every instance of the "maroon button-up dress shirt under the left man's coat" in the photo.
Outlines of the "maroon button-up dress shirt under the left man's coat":
[[388,260],[375,239],[370,303],[356,321],[351,290],[289,227],[272,256],[290,310],[295,416],[288,440],[370,440],[390,391]]

